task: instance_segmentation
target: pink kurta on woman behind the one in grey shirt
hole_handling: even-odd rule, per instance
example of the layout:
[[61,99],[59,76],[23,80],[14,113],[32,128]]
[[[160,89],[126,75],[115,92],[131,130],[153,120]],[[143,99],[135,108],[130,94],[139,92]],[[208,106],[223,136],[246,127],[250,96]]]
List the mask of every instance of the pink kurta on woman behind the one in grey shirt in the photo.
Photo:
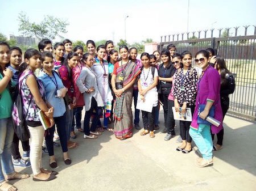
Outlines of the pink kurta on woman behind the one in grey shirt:
[[74,84],[75,94],[76,94],[76,107],[84,106],[84,96],[81,94],[81,92],[79,91],[79,87],[77,87],[77,84],[76,84],[77,78],[79,78],[79,75],[82,71],[82,67],[84,66],[77,65],[72,69],[73,84]]

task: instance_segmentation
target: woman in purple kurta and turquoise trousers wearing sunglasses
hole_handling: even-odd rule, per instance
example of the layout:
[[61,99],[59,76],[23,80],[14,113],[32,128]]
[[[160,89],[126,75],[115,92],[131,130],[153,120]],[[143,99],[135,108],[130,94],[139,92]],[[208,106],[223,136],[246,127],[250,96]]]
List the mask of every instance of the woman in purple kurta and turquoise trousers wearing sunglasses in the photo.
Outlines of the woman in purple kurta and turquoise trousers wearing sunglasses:
[[[203,69],[203,72],[197,83],[196,107],[189,129],[189,134],[203,156],[203,158],[196,160],[197,167],[206,167],[213,164],[213,143],[210,130],[212,130],[212,133],[218,133],[218,131],[222,129],[222,123],[217,127],[214,125],[203,124],[201,120],[200,123],[197,122],[199,117],[205,120],[212,109],[214,109],[212,115],[213,118],[218,121],[222,121],[220,75],[216,69],[209,66],[208,61],[209,53],[207,51],[200,50],[196,53],[195,62],[198,67]],[[205,108],[201,109],[201,112],[199,112],[199,109],[203,106],[205,106]]]

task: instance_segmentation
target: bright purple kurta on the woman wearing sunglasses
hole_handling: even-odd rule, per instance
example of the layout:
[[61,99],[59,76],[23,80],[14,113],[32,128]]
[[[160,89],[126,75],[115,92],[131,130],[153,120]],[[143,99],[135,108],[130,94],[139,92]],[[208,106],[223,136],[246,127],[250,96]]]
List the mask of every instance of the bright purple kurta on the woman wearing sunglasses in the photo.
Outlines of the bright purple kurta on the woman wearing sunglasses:
[[220,126],[211,125],[210,128],[213,134],[218,133],[222,129],[222,109],[220,101],[220,74],[212,66],[209,66],[197,83],[197,96],[196,107],[193,114],[191,128],[198,129],[197,117],[199,115],[199,105],[207,104],[207,101],[213,101],[215,106],[214,117],[216,120],[221,121]]

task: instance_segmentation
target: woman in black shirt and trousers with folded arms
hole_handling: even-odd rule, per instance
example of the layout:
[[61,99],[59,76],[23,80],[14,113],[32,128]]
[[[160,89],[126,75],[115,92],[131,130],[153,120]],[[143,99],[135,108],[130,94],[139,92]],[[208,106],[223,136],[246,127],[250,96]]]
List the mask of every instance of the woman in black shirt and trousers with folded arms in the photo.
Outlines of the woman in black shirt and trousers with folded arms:
[[[158,93],[159,93],[159,100],[163,104],[164,125],[165,125],[165,128],[161,132],[167,133],[167,127],[170,125],[170,121],[167,121],[168,95],[171,92],[172,76],[174,75],[176,69],[172,65],[171,56],[168,49],[162,50],[161,60],[163,63],[159,65],[159,70],[158,70],[158,75],[159,75]],[[175,132],[172,132],[172,135],[175,135]]]

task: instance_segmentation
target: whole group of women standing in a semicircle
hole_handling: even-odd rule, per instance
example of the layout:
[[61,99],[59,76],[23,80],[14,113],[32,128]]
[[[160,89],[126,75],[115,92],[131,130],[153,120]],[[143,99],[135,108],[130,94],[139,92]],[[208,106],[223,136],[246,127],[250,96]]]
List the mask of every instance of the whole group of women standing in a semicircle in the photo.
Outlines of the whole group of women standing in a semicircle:
[[[154,130],[159,129],[159,107],[163,105],[165,128],[161,132],[167,133],[164,137],[166,141],[175,136],[172,108],[181,114],[190,108],[192,122],[180,121],[182,143],[176,150],[184,154],[191,152],[193,139],[203,156],[197,159],[197,166],[205,167],[213,163],[212,150],[222,148],[224,131],[222,124],[218,127],[211,125],[205,118],[213,111],[212,117],[222,122],[228,110],[228,95],[232,94],[232,88],[229,88],[232,75],[226,69],[223,58],[210,58],[210,50],[200,50],[195,55],[198,68],[195,69],[191,66],[192,54],[188,51],[177,54],[174,45],[167,46],[162,52],[156,50],[151,55],[142,53],[141,60],[137,59],[137,49],[129,49],[126,45],[119,46],[118,54],[113,41],[106,41],[105,45],[96,48],[94,41],[88,40],[86,46],[88,53],[84,53],[82,46],[73,49],[68,39],[54,46],[51,40],[43,39],[39,43],[39,51],[26,50],[24,63],[20,64],[21,50],[18,47],[10,49],[8,44],[0,42],[0,189],[16,190],[5,181],[2,168],[8,180],[28,177],[15,172],[11,162],[11,146],[15,134],[11,127],[11,87],[15,81],[22,96],[23,114],[31,139],[30,148],[28,146],[23,149],[25,154],[30,152],[35,181],[56,178],[57,172],[48,171],[41,165],[45,139],[49,166],[57,167],[53,152],[55,134],[60,139],[63,161],[67,165],[72,163],[68,149],[78,146],[70,140],[76,138],[75,126],[84,132],[85,139],[96,139],[104,130],[114,131],[115,137],[120,140],[132,137],[133,98],[135,128],[140,129],[141,108],[144,128],[141,135],[149,134],[151,138],[155,137]],[[13,50],[19,52],[19,59],[14,61],[18,62],[16,66],[10,61]],[[83,108],[85,117],[82,129]],[[51,128],[44,130],[40,111],[49,118]],[[103,118],[103,125],[100,118]],[[114,129],[109,128],[110,122],[114,122]],[[214,134],[217,134],[218,142],[213,146]],[[14,145],[16,148],[17,144]],[[17,159],[20,158],[18,153]]]

